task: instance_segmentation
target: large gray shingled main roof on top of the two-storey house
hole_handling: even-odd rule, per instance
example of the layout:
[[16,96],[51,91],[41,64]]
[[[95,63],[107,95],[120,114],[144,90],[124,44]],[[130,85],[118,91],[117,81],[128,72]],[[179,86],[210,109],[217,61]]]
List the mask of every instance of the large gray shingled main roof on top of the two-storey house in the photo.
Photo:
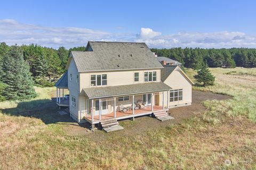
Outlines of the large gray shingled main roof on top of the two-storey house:
[[89,41],[87,49],[93,51],[71,52],[78,72],[163,67],[145,43]]

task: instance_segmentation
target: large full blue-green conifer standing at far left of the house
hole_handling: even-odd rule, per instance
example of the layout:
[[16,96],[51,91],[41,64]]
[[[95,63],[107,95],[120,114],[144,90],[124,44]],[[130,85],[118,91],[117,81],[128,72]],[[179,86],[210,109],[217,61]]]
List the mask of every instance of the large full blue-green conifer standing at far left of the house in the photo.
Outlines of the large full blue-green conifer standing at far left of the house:
[[29,72],[28,63],[23,59],[22,50],[17,45],[12,46],[3,61],[3,83],[7,85],[3,96],[7,100],[23,100],[33,98],[36,92],[34,81]]

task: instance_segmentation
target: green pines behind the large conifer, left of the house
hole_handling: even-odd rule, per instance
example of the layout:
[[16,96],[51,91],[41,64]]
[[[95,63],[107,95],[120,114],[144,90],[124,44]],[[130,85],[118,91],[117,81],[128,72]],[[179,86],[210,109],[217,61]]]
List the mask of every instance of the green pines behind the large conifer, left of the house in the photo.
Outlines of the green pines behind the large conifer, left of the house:
[[[60,75],[65,72],[65,66],[71,50],[85,50],[85,47],[70,49],[59,47],[59,49],[53,49],[34,44],[17,47],[20,48],[24,60],[29,65],[29,71],[35,84],[43,87],[53,86]],[[11,48],[12,46],[0,43],[0,82],[4,57],[9,54]]]

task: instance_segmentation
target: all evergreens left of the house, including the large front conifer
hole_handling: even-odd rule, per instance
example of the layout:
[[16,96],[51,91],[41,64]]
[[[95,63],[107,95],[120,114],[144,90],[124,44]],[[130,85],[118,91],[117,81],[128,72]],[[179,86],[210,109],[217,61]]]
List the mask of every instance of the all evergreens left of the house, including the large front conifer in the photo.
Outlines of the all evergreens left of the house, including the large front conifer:
[[36,96],[33,86],[53,86],[65,72],[71,50],[38,45],[8,46],[0,43],[0,101],[23,100]]

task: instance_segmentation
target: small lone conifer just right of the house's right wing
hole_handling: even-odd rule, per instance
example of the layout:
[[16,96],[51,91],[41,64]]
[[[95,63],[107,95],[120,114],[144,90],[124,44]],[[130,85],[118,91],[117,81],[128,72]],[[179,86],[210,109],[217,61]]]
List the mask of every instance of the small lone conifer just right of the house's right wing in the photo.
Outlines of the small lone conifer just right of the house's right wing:
[[215,81],[215,77],[210,72],[207,64],[204,64],[202,69],[197,71],[197,74],[194,75],[194,78],[199,83],[203,82],[204,86],[212,86]]

